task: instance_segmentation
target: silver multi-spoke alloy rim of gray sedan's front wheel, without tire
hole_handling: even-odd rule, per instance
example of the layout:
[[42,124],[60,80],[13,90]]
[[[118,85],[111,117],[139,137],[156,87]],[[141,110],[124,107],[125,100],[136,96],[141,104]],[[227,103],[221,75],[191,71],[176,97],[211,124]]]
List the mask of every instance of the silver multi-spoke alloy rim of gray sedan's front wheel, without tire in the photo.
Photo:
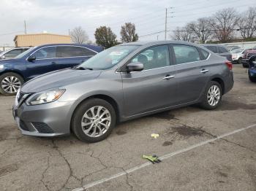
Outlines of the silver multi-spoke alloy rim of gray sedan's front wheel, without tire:
[[110,128],[111,115],[104,106],[93,106],[83,114],[83,133],[90,137],[102,136]]

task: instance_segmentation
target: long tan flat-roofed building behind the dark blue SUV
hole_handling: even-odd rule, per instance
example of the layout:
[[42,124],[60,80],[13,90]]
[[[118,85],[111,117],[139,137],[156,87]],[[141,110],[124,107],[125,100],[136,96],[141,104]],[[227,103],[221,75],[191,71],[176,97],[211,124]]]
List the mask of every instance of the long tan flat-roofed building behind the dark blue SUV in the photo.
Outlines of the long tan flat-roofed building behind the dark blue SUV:
[[34,47],[42,44],[71,43],[71,36],[59,34],[19,34],[13,39],[16,47]]

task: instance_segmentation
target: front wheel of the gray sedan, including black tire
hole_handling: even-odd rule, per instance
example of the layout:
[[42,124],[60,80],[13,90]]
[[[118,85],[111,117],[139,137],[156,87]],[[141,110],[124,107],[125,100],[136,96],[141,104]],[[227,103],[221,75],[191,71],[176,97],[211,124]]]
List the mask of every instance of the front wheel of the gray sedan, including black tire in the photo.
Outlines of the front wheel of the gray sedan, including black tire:
[[71,128],[81,141],[106,139],[116,125],[116,112],[107,101],[92,98],[84,101],[72,117]]

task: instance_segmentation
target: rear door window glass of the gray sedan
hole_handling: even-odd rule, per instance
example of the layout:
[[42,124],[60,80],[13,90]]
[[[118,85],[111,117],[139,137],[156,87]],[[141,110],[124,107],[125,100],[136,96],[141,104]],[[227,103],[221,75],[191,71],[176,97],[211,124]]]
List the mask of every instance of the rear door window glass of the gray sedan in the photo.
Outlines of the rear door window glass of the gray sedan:
[[187,45],[173,45],[176,64],[200,61],[197,48]]

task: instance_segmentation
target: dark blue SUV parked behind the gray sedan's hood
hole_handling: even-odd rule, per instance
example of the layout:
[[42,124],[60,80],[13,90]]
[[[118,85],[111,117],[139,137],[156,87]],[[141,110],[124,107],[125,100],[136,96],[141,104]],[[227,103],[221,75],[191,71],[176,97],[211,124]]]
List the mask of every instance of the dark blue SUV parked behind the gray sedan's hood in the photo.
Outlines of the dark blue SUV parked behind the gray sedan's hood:
[[102,47],[88,44],[45,44],[32,47],[15,59],[0,61],[0,93],[15,95],[29,79],[77,66],[102,50]]

